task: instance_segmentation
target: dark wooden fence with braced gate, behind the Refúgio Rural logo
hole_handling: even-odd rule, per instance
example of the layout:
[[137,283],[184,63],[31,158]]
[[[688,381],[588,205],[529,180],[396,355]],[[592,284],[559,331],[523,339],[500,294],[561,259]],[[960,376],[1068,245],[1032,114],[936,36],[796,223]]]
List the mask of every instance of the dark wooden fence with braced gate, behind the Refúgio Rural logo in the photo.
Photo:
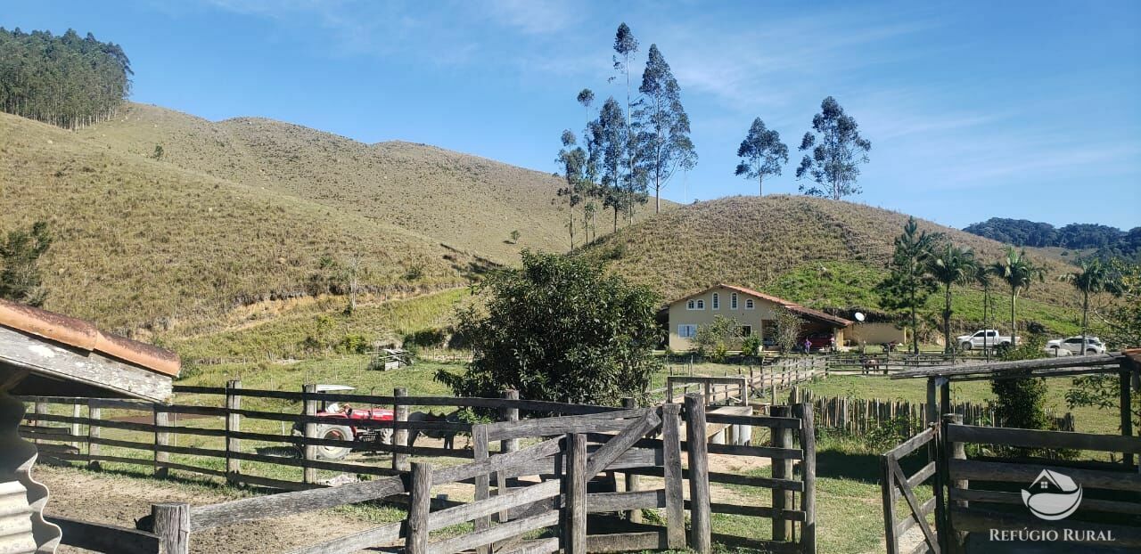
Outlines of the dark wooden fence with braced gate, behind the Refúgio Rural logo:
[[[1065,431],[964,425],[960,414],[946,414],[941,424],[904,441],[881,457],[884,530],[888,554],[1021,552],[1027,537],[1037,533],[1052,545],[1075,552],[1138,552],[1141,549],[1141,474],[1130,463],[1054,459],[1043,457],[968,457],[966,445],[997,451],[1093,450],[1141,454],[1141,438]],[[925,447],[925,448],[924,448]],[[907,475],[900,459],[923,456],[924,464]],[[1122,459],[1125,459],[1124,456]],[[1059,500],[1039,515],[1033,497],[1043,491]],[[919,487],[930,484],[930,498],[919,500]],[[906,513],[897,518],[898,500]],[[905,540],[905,535],[921,535]],[[1013,543],[996,545],[996,533],[1017,535]],[[905,548],[905,543],[914,543]],[[1043,543],[1045,546],[1045,543]],[[1055,552],[1053,546],[1049,552]],[[1034,552],[1046,549],[1034,548]]]

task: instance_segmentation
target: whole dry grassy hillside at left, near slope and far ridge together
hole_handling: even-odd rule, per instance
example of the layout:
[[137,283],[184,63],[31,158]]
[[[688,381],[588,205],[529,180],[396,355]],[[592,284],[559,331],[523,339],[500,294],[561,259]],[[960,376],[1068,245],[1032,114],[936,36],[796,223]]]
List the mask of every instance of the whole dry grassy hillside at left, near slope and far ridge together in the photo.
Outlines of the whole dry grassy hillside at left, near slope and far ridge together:
[[0,233],[50,221],[46,307],[141,339],[309,309],[304,299],[343,292],[354,260],[363,301],[377,303],[462,287],[524,247],[565,250],[557,186],[269,120],[129,104],[71,132],[0,114]]

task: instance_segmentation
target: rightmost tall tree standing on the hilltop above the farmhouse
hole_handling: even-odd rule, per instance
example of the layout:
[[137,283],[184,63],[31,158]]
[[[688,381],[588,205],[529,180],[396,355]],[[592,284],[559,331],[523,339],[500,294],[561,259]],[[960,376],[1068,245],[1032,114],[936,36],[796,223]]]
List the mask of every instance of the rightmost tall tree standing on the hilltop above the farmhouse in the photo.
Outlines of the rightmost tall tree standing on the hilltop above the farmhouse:
[[830,96],[820,103],[820,113],[812,116],[812,131],[801,139],[800,150],[808,154],[796,168],[796,178],[810,178],[815,185],[801,185],[800,189],[832,199],[859,194],[859,164],[867,163],[872,142],[859,135],[856,120]]

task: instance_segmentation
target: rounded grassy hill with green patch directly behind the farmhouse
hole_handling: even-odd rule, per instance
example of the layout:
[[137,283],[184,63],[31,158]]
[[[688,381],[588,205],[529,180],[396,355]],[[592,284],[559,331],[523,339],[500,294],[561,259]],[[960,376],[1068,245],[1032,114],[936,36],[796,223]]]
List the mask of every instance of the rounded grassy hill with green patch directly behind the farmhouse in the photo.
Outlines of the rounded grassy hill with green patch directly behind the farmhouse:
[[[614,271],[675,299],[715,283],[739,284],[816,308],[877,309],[875,284],[887,275],[892,241],[907,215],[804,196],[735,196],[687,205],[602,237],[583,251],[609,260]],[[969,233],[920,221],[946,234],[978,258],[993,261],[1004,245]],[[1046,268],[1019,316],[1059,332],[1075,328],[1076,295],[1057,277],[1073,267],[1028,253]],[[981,292],[960,294],[956,311],[981,316]],[[936,300],[932,299],[932,305]],[[974,304],[978,304],[976,308]],[[941,305],[941,304],[940,304]],[[1009,304],[1000,292],[1000,317]]]

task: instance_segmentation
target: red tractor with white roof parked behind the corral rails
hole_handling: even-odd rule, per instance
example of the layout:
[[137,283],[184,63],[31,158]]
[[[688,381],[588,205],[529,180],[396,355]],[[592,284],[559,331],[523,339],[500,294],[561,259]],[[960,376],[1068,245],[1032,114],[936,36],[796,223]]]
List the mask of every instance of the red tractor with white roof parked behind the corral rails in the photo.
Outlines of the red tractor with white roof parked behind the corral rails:
[[[348,385],[317,385],[317,392],[339,392],[348,393],[356,390],[354,386]],[[390,422],[396,419],[396,414],[389,408],[354,408],[347,404],[338,401],[325,401],[322,400],[317,406],[317,417],[335,417],[350,419],[370,419],[379,422]],[[297,437],[305,435],[305,424],[297,422],[293,424],[293,434]],[[346,425],[341,422],[334,423],[318,423],[317,424],[317,438],[318,439],[330,439],[330,440],[346,440],[353,441],[353,447],[335,447],[335,446],[318,446],[317,457],[324,459],[340,459],[353,450],[367,450],[369,443],[381,443],[391,445],[393,443],[393,430],[391,429],[377,429],[377,427],[358,427],[356,425]]]

